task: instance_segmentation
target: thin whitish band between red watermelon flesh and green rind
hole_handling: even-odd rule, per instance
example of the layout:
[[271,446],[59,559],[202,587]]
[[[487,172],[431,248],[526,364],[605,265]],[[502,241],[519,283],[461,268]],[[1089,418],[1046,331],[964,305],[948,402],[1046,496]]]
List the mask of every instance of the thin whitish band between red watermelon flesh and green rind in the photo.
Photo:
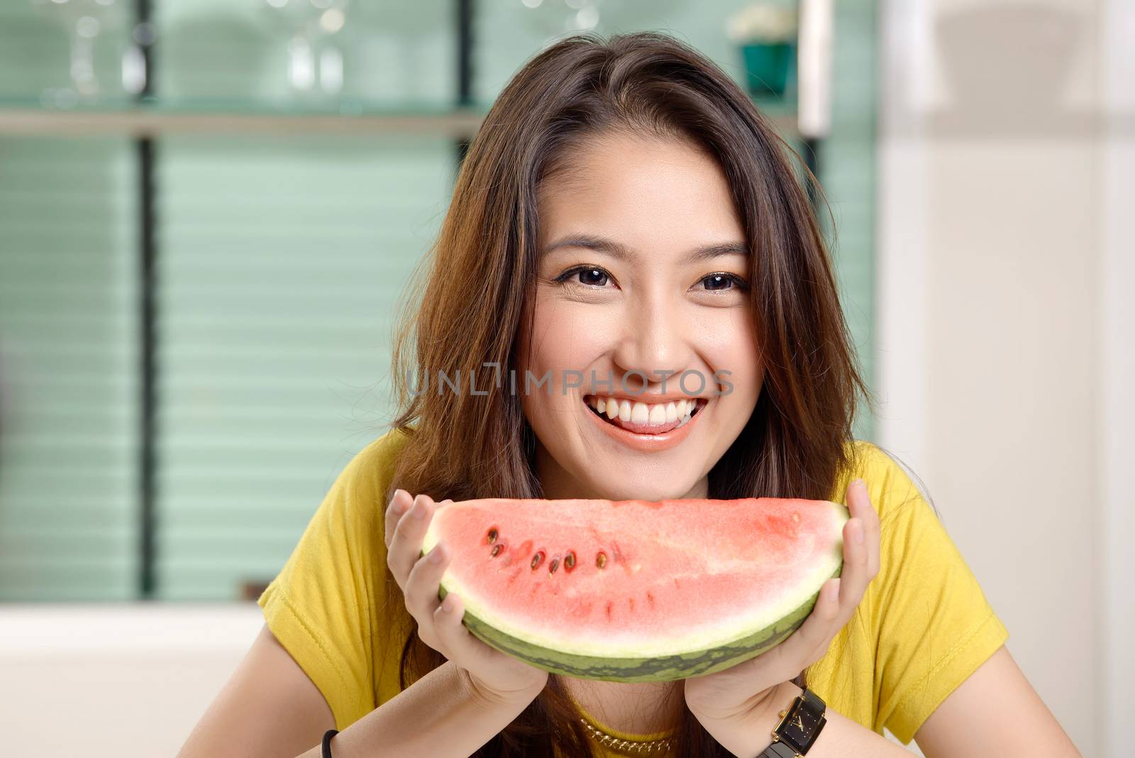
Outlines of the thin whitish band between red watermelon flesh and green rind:
[[[531,629],[511,623],[499,612],[494,610],[491,604],[470,592],[452,568],[447,568],[443,574],[442,586],[447,592],[456,592],[463,600],[465,610],[473,616],[510,637],[538,647],[602,658],[658,657],[708,650],[735,642],[755,631],[772,626],[802,606],[835,573],[843,558],[843,524],[848,521],[849,514],[846,506],[836,503],[829,503],[829,505],[832,516],[830,520],[831,549],[815,556],[812,571],[801,578],[794,588],[777,593],[779,603],[751,608],[747,613],[739,613],[733,618],[706,620],[707,624],[704,628],[681,635],[666,634],[665,629],[659,629],[657,637],[649,638],[637,634],[633,638],[620,639],[617,630],[611,630],[602,639],[581,638],[578,632],[571,638],[537,634]],[[437,530],[431,523],[422,540],[422,553],[432,549],[437,541]],[[691,593],[696,591],[696,587],[690,588]]]

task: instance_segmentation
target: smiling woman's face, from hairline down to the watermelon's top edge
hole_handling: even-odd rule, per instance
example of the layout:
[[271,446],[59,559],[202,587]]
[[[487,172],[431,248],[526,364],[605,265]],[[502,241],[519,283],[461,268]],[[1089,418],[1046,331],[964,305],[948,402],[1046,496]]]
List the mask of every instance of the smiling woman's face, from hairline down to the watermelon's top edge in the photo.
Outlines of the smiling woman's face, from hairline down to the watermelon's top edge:
[[706,497],[763,377],[725,176],[687,143],[623,135],[568,166],[537,199],[535,329],[518,355],[545,496]]

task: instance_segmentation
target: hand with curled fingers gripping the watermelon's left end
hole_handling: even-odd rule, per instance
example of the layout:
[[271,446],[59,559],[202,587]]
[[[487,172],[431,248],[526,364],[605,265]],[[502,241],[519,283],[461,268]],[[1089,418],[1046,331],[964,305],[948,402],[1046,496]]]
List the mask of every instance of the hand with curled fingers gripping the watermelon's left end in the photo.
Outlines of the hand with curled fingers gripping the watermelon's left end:
[[405,490],[394,492],[386,508],[386,565],[418,622],[418,637],[464,671],[476,694],[490,702],[529,702],[544,689],[548,673],[473,637],[461,623],[465,606],[455,592],[438,601],[442,574],[453,554],[444,542],[428,555],[421,550],[435,508],[446,503],[452,500],[435,504],[428,495],[411,498]]

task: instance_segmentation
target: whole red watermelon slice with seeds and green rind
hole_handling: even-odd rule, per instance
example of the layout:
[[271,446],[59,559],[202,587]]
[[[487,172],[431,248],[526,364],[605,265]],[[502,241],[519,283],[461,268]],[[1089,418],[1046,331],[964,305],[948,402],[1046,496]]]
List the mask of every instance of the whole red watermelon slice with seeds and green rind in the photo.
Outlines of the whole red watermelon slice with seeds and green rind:
[[848,509],[826,500],[462,500],[438,507],[422,554],[453,559],[440,596],[533,666],[669,681],[777,645],[843,566]]

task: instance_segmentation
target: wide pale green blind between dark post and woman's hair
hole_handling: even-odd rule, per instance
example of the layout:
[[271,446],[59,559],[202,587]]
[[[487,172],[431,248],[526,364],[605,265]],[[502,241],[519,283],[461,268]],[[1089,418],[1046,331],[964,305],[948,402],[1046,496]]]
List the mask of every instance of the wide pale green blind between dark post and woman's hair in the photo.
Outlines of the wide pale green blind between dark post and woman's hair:
[[447,141],[162,140],[159,597],[267,581],[390,418],[395,302],[452,188]]

